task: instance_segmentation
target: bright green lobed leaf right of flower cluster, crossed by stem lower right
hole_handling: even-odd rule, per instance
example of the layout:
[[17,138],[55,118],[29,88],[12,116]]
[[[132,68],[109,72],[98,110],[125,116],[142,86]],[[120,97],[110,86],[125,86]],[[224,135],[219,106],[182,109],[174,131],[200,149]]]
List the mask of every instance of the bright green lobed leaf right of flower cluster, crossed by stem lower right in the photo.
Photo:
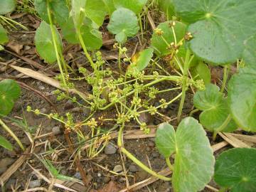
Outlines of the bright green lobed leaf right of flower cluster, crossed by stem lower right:
[[[208,84],[206,90],[196,92],[193,97],[195,107],[203,111],[199,116],[201,124],[211,132],[218,129],[230,114],[228,100],[219,90],[217,85]],[[222,132],[233,132],[236,128],[235,122],[231,120]]]

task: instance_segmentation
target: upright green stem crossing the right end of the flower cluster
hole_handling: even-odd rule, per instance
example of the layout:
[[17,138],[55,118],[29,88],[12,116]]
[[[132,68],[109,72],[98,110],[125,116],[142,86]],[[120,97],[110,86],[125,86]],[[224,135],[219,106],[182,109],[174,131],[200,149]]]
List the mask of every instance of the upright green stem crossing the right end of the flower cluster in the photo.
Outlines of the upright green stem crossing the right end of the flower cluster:
[[181,102],[178,108],[178,115],[177,120],[178,122],[181,121],[181,113],[183,110],[183,105],[185,102],[186,97],[186,88],[187,88],[187,80],[188,80],[188,67],[189,67],[189,57],[190,57],[190,51],[189,49],[186,51],[186,58],[184,63],[184,70],[183,70],[183,81],[182,81],[182,96],[181,96]]

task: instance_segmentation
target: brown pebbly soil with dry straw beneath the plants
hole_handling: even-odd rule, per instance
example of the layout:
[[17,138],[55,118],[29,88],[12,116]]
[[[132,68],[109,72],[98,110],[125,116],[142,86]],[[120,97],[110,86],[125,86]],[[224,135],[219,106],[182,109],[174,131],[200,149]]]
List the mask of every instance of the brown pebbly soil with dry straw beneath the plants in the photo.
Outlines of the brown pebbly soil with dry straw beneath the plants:
[[[55,65],[47,65],[46,63],[43,63],[43,61],[36,54],[33,43],[35,30],[38,27],[40,21],[38,18],[28,14],[17,14],[16,17],[18,21],[29,28],[29,31],[16,31],[11,29],[11,33],[9,34],[11,38],[10,43],[6,46],[6,50],[0,52],[0,57],[4,58],[4,63],[21,66],[23,68],[31,68],[32,70],[38,70],[39,72],[45,73],[46,75],[51,75],[53,78],[53,74],[58,73],[58,68]],[[105,34],[105,41],[110,41],[111,39],[112,36]],[[133,38],[131,41],[129,41],[128,47],[130,52],[134,50],[137,42],[137,38]],[[107,56],[114,54],[111,48],[112,44],[110,41],[110,43],[106,43],[102,48],[103,55]],[[70,65],[72,67],[75,67],[73,66],[73,62],[71,62],[71,60],[74,59],[77,60],[78,63],[85,64],[85,67],[87,66],[79,46],[65,46],[64,53],[65,59],[70,60]],[[24,59],[24,57],[29,58],[29,60],[26,60],[26,58]],[[33,65],[33,61],[43,66],[43,70],[36,68],[35,65]],[[115,68],[113,63],[113,61],[110,61],[108,65],[112,68]],[[217,71],[218,74],[221,73],[221,71],[218,69],[215,71]],[[81,180],[79,171],[76,169],[75,164],[73,163],[74,156],[73,154],[70,154],[70,151],[68,150],[68,144],[65,141],[62,125],[53,119],[48,119],[48,117],[41,115],[38,116],[32,112],[26,112],[26,107],[29,105],[33,109],[41,110],[41,112],[46,114],[51,112],[58,112],[59,114],[71,112],[74,115],[76,122],[85,119],[85,117],[90,114],[90,111],[82,110],[78,105],[75,105],[68,100],[57,101],[56,95],[53,94],[55,87],[47,85],[39,80],[29,78],[26,75],[18,73],[18,71],[12,68],[6,68],[2,64],[0,64],[0,78],[13,78],[20,82],[22,87],[22,94],[19,100],[16,102],[14,110],[9,115],[9,117],[20,121],[22,121],[22,119],[26,119],[27,126],[23,126],[23,129],[26,127],[27,132],[31,132],[33,136],[36,136],[35,141],[32,141],[31,143],[21,127],[18,127],[10,119],[5,119],[5,122],[9,125],[9,127],[11,127],[18,138],[21,139],[21,142],[24,144],[24,146],[30,149],[32,144],[36,145],[32,146],[33,151],[28,150],[26,153],[23,153],[18,148],[16,142],[14,142],[11,137],[6,135],[3,129],[0,129],[0,134],[10,139],[12,144],[15,146],[14,151],[7,151],[6,149],[0,148],[0,175],[3,176],[3,174],[6,174],[8,168],[12,166],[18,158],[21,158],[22,156],[25,157],[21,166],[18,166],[18,168],[14,171],[14,174],[12,174],[11,177],[6,181],[6,184],[4,185],[5,190],[26,191],[28,188],[38,188],[36,191],[43,191],[43,188],[48,189],[50,183],[47,183],[46,179],[38,177],[38,174],[35,171],[38,170],[43,176],[46,176],[46,178],[51,178],[49,171],[46,170],[45,166],[43,166],[42,162],[38,158],[41,155],[47,156],[48,159],[53,160],[55,162],[54,166],[60,170],[60,174],[65,176],[72,176]],[[76,86],[84,92],[91,91],[91,87],[87,85],[86,82],[80,82],[79,85]],[[166,87],[171,88],[175,85],[163,82],[157,86],[159,89],[161,89],[161,87],[166,89]],[[169,93],[159,95],[159,98],[164,98],[168,101],[175,96],[176,92],[172,92],[171,95]],[[188,115],[188,113],[192,110],[192,100],[193,94],[192,92],[188,92],[183,110],[184,116]],[[171,124],[174,125],[176,124],[175,117],[178,111],[178,102],[179,101],[174,102],[168,108],[161,111],[166,115],[166,117],[173,119]],[[155,105],[157,105],[157,103]],[[111,117],[113,115],[113,109],[107,110],[103,113],[105,116]],[[96,117],[99,117],[100,115],[102,115],[102,113],[95,114]],[[195,114],[195,117],[197,115],[198,114]],[[146,119],[145,121],[148,122],[148,124],[151,124],[153,127],[156,127],[161,122],[166,121],[166,119],[158,116],[152,117],[146,115],[144,118]],[[112,124],[102,125],[104,129],[110,129],[112,126]],[[84,132],[90,131],[88,127],[82,127],[82,130]],[[139,130],[139,126],[135,122],[130,122],[129,126],[126,127],[126,130]],[[114,132],[117,132],[117,130],[114,130]],[[210,134],[209,137],[211,137]],[[76,135],[70,134],[70,138],[74,146],[76,146]],[[222,141],[223,139],[218,137],[215,143],[211,144],[217,144]],[[112,143],[112,146],[114,146],[114,149],[117,149],[116,139],[112,139],[110,142]],[[161,171],[166,169],[164,157],[161,156],[156,150],[154,137],[144,139],[125,139],[124,145],[128,151],[137,157],[137,159],[141,160],[144,164],[151,166],[154,171]],[[216,155],[228,147],[229,146],[226,146],[226,148],[224,147],[218,150]],[[81,166],[85,169],[85,172],[87,173],[87,179],[90,181],[90,184],[88,186],[83,186],[79,183],[61,183],[61,185],[68,188],[73,188],[75,191],[114,192],[126,188],[127,182],[125,176],[123,176],[124,170],[119,171],[119,175],[117,176],[110,173],[110,171],[112,171],[115,166],[122,165],[122,163],[124,163],[124,166],[127,169],[127,180],[129,181],[130,186],[138,183],[139,181],[144,181],[146,178],[150,177],[149,174],[146,174],[145,171],[142,171],[142,169],[139,169],[137,166],[135,166],[131,160],[124,158],[124,162],[122,162],[118,149],[113,154],[106,154],[105,151],[102,151],[102,153],[95,159],[86,159],[85,151],[81,151],[80,159]],[[213,182],[210,183],[210,186],[217,188]],[[4,188],[1,188],[0,191],[4,191]],[[65,190],[61,189],[60,187],[53,186],[52,191]],[[171,183],[166,181],[155,181],[148,186],[139,188],[137,191],[167,192],[171,191]],[[203,191],[212,190],[206,188]]]

